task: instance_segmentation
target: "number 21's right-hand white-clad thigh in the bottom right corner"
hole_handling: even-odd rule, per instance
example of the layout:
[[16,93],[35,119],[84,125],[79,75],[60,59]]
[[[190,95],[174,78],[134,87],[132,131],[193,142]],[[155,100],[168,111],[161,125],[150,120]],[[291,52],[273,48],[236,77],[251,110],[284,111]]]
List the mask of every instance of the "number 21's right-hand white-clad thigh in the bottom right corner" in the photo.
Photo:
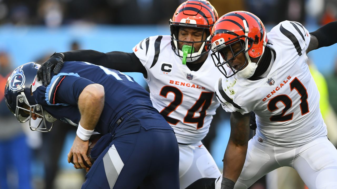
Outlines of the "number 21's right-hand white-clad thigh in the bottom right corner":
[[308,188],[337,188],[337,150],[327,137],[320,137],[296,149],[293,167]]

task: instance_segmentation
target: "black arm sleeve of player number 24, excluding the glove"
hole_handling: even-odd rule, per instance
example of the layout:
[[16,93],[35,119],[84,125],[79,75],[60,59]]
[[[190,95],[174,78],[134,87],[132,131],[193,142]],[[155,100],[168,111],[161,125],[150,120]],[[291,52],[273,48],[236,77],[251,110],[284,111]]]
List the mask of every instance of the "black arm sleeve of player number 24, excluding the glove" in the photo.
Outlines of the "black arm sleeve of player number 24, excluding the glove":
[[96,50],[72,50],[62,53],[64,54],[63,61],[90,62],[121,72],[139,72],[147,76],[145,67],[134,52],[112,51],[103,53]]

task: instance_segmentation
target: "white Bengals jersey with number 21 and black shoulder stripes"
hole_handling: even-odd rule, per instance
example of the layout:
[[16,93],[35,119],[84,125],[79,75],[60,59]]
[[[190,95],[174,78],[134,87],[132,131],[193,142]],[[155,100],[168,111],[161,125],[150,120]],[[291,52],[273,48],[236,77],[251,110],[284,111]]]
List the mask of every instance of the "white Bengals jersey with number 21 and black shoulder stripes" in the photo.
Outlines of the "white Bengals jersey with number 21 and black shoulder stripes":
[[256,135],[275,145],[299,146],[326,136],[319,92],[307,65],[309,32],[297,22],[284,21],[267,37],[276,55],[268,76],[256,81],[236,75],[220,78],[215,85],[220,104],[227,112],[253,111]]

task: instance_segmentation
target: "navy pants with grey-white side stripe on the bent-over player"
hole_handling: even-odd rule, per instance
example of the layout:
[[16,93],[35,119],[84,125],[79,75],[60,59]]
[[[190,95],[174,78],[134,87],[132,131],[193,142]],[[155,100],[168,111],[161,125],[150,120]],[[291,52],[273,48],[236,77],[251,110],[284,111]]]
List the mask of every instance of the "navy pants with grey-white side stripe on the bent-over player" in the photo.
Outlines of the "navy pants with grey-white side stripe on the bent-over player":
[[[179,154],[175,135],[173,131],[163,132],[158,141],[153,133],[141,128],[138,133],[115,138],[90,168],[82,188],[136,189],[143,182],[153,182],[165,173],[170,181],[156,183],[156,187],[166,189],[162,186],[166,184],[167,189],[177,189]],[[167,138],[170,140],[165,140]],[[156,168],[155,173],[151,172],[152,167]]]

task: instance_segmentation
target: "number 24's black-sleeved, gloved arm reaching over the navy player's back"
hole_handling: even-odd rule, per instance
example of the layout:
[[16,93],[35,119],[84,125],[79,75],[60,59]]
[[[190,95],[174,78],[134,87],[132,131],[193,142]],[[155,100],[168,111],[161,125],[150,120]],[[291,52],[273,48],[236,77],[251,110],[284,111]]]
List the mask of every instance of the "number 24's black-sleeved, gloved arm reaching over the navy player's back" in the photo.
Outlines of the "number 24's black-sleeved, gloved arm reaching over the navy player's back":
[[89,62],[121,72],[140,72],[144,77],[147,77],[145,67],[133,52],[112,51],[103,53],[96,50],[72,50],[54,53],[38,70],[38,80],[42,80],[42,84],[47,86],[51,81],[51,71],[54,71],[55,75],[58,74],[65,61]]

